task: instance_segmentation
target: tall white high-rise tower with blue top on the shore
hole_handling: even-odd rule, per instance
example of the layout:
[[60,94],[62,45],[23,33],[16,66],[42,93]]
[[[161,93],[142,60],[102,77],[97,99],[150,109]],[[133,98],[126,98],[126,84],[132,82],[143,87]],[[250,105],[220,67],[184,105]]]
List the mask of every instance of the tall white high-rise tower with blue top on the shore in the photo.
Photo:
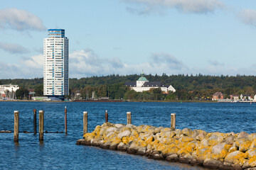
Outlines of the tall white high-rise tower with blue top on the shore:
[[48,30],[48,38],[43,39],[43,58],[43,95],[63,100],[69,94],[65,30]]

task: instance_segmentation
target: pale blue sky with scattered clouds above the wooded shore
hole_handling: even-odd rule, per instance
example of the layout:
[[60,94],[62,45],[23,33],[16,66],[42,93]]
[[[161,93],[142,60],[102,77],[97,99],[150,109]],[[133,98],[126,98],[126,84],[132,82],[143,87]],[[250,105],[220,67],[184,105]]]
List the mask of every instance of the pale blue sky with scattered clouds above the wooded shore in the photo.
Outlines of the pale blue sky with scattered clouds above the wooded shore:
[[0,79],[43,77],[48,29],[69,38],[69,77],[256,74],[255,0],[1,1]]

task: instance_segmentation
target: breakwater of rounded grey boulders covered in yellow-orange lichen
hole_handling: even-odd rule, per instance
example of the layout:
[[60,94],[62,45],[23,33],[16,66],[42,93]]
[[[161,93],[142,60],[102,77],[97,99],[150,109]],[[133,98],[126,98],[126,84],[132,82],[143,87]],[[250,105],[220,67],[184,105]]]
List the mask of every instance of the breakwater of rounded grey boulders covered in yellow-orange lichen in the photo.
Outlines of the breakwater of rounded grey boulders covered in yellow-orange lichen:
[[92,145],[213,169],[256,169],[256,133],[104,123],[83,137],[77,145]]

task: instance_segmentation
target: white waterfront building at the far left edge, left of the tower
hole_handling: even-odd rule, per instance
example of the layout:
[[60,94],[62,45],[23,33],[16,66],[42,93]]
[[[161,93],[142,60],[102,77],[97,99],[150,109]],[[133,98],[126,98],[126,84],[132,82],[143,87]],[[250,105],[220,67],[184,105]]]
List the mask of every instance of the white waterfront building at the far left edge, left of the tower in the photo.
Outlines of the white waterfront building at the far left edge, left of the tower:
[[0,85],[0,98],[15,99],[16,90],[18,89],[19,89],[18,85],[12,85],[12,84]]

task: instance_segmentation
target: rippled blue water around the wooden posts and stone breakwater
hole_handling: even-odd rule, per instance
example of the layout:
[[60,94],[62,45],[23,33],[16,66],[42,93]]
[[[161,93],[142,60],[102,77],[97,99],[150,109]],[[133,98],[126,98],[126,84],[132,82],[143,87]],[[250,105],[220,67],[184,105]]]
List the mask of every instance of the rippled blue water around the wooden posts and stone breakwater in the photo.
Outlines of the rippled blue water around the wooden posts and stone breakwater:
[[[45,133],[44,141],[33,133],[33,109],[45,111],[44,129],[64,131],[64,108],[68,109],[68,135]],[[19,142],[14,134],[0,134],[0,169],[203,169],[185,164],[147,159],[112,150],[75,145],[82,138],[82,112],[88,111],[88,131],[105,122],[170,127],[176,113],[176,128],[207,132],[255,132],[256,104],[252,103],[76,103],[0,102],[0,130],[14,130],[14,111],[20,111]],[[37,112],[38,113],[38,112]],[[38,118],[38,115],[37,115]],[[37,123],[38,124],[38,123]]]

